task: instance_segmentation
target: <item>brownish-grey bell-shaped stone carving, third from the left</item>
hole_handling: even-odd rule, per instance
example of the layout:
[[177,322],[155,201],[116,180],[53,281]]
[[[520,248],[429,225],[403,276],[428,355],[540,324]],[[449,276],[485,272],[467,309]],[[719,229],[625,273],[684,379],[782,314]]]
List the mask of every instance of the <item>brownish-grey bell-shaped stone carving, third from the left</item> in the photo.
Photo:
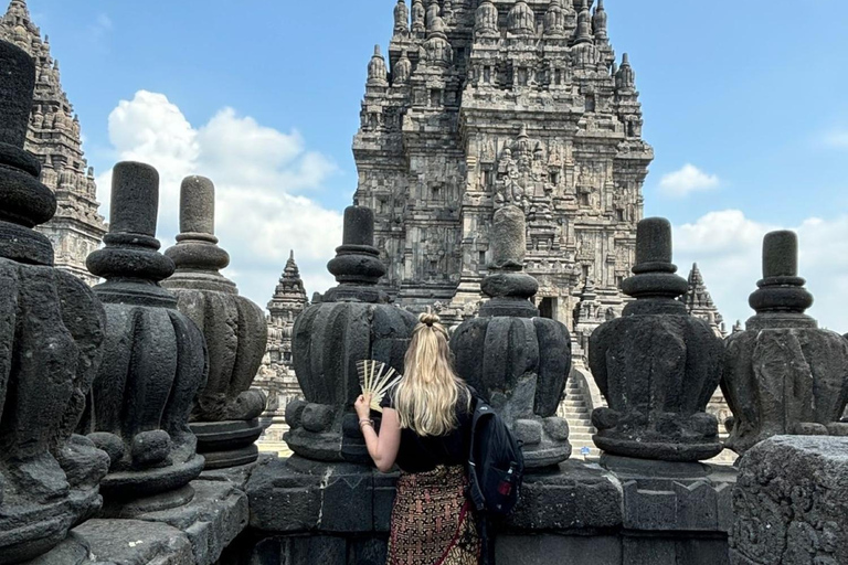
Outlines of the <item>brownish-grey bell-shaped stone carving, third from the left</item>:
[[262,308],[239,296],[219,269],[230,255],[215,237],[215,186],[189,177],[180,189],[180,235],[165,252],[177,266],[162,286],[177,296],[177,308],[203,332],[209,351],[209,380],[194,402],[191,429],[206,469],[256,460],[262,435],[259,415],[265,394],[251,388],[268,341]]

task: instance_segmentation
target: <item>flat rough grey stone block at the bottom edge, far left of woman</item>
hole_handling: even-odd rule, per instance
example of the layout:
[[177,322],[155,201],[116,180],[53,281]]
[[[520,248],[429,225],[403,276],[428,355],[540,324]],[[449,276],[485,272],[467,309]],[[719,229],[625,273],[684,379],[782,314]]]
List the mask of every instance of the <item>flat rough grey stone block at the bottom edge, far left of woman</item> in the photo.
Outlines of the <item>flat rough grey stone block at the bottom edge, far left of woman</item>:
[[89,520],[74,532],[92,548],[92,565],[194,565],[188,537],[167,524]]

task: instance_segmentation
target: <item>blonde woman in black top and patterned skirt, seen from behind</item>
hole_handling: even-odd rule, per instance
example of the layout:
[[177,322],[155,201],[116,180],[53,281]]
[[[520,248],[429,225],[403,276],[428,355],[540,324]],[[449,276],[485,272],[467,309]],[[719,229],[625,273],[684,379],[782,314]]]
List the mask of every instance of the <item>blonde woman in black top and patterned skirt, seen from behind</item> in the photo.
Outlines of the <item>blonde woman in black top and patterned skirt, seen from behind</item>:
[[425,313],[412,332],[405,373],[385,395],[380,434],[371,398],[356,408],[377,468],[401,468],[388,565],[477,565],[480,539],[465,497],[471,395],[451,364],[447,330]]

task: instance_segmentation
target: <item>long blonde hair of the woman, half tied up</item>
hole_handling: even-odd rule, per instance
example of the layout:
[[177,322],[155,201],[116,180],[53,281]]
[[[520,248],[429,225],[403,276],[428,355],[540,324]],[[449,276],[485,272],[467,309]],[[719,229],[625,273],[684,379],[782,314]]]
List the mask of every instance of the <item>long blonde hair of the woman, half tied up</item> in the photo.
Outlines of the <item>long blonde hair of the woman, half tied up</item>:
[[402,428],[420,436],[444,436],[458,425],[460,394],[470,402],[465,382],[454,372],[448,333],[438,316],[423,313],[412,331],[404,374],[394,392]]

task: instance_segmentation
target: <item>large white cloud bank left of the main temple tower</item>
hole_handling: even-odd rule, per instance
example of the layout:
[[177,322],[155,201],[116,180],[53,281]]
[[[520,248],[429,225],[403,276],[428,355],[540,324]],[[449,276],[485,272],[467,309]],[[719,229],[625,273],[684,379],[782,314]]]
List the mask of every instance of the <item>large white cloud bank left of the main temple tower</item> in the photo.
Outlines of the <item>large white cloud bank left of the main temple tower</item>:
[[[232,258],[226,275],[243,295],[264,307],[292,248],[309,292],[332,286],[326,264],[341,243],[341,214],[304,193],[319,189],[337,169],[308,151],[297,131],[264,127],[232,108],[194,127],[165,95],[139,90],[109,115],[109,139],[116,160],[146,162],[159,171],[163,246],[178,233],[182,179],[202,174],[215,183],[215,231]],[[97,178],[103,210],[110,181],[110,171]]]

